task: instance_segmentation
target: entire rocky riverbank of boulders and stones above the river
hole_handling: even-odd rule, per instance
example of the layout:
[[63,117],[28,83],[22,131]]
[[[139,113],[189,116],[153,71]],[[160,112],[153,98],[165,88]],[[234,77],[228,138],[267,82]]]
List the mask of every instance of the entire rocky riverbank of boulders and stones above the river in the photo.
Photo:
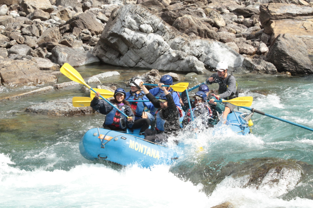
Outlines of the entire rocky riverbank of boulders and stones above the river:
[[[51,71],[103,61],[202,74],[313,74],[312,0],[0,0],[0,77],[55,83]],[[25,67],[27,66],[27,67]]]

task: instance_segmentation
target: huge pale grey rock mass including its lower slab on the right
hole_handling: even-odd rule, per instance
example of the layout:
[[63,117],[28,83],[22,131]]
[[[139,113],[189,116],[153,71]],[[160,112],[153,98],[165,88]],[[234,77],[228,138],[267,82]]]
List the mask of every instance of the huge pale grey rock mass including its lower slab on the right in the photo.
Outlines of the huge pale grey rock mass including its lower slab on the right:
[[94,54],[113,65],[200,74],[205,65],[215,67],[225,56],[231,67],[241,66],[243,60],[222,43],[189,39],[141,5],[124,5],[112,12]]

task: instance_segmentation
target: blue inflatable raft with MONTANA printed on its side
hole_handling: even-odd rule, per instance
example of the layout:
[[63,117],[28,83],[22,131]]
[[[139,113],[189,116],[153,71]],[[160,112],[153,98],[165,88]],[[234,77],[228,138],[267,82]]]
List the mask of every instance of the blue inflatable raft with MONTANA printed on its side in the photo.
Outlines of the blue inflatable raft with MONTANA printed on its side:
[[[248,122],[244,120],[246,116],[247,113],[234,111],[228,114],[228,125],[238,134],[250,133]],[[144,140],[144,136],[139,135],[139,129],[123,133],[92,128],[81,138],[79,149],[88,160],[103,159],[123,166],[172,164],[179,157],[171,148]]]

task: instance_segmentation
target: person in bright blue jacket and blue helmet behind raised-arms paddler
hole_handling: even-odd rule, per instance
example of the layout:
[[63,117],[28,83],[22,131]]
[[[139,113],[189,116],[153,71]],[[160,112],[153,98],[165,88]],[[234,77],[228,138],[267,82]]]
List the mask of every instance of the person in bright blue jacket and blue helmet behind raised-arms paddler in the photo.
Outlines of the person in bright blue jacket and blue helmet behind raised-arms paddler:
[[[173,78],[170,75],[164,75],[161,77],[159,83],[162,83],[163,85],[172,85]],[[179,94],[176,91],[174,91],[171,87],[165,87],[165,89],[170,94],[172,94],[175,105],[180,109],[181,104],[179,103]],[[150,89],[149,92],[154,97],[159,97],[162,93],[164,93],[164,90],[162,90],[160,87],[156,87],[156,88]],[[147,97],[144,97],[144,99],[148,100]],[[147,105],[147,108],[150,110],[150,113],[154,115],[157,109],[151,103],[147,103],[146,105]]]

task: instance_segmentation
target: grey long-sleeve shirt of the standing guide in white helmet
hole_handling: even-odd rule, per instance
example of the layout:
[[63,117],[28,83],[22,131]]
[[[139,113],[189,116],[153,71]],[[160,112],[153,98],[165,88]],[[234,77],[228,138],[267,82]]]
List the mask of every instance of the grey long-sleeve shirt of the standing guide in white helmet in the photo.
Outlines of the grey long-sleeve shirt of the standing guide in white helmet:
[[[211,85],[213,83],[218,83],[218,95],[221,99],[227,99],[232,93],[236,93],[237,87],[236,87],[236,79],[233,75],[227,73],[227,77],[222,80],[222,78],[218,77],[218,74],[215,73],[211,75],[210,77],[213,77],[213,81],[209,82],[209,78],[206,80],[208,85]],[[229,77],[229,78],[228,78]],[[228,78],[228,79],[227,79]],[[227,81],[228,80],[228,81]],[[227,83],[226,83],[227,81]]]

